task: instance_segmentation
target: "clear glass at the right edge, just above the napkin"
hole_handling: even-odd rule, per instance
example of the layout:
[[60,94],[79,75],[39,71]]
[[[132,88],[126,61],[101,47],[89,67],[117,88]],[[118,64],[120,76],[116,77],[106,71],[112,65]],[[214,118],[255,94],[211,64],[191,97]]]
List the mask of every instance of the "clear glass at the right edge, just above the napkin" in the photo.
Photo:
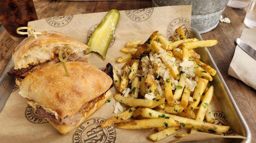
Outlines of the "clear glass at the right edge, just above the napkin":
[[256,26],[256,0],[251,0],[244,18],[244,24],[249,28]]

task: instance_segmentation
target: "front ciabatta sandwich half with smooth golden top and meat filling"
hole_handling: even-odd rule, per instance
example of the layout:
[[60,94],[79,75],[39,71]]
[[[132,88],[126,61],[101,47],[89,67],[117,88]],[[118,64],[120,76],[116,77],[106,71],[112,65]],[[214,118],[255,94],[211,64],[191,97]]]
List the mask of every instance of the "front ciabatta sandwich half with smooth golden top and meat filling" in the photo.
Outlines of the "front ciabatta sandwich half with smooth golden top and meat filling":
[[68,77],[64,68],[56,65],[45,65],[27,75],[20,83],[19,94],[39,116],[66,134],[111,96],[113,67],[108,64],[103,72],[87,62],[66,62]]

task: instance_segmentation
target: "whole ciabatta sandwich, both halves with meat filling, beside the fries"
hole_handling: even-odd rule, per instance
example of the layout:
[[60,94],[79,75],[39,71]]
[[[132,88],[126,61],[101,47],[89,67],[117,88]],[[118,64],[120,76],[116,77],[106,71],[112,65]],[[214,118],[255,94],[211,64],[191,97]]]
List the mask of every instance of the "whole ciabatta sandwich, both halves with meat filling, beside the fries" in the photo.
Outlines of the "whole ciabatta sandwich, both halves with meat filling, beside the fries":
[[[113,67],[107,64],[104,71],[99,70],[76,54],[87,48],[49,31],[38,38],[29,36],[12,53],[14,69],[9,75],[16,79],[19,94],[62,134],[76,129],[111,96]],[[69,55],[65,67],[58,66],[62,50]]]

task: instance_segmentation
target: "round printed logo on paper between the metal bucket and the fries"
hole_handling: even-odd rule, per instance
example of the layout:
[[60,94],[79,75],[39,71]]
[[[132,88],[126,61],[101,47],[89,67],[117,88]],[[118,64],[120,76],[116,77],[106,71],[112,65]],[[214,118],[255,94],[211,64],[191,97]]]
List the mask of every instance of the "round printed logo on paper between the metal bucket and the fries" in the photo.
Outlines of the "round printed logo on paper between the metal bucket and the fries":
[[175,30],[180,26],[183,29],[185,36],[189,37],[191,22],[187,18],[180,17],[176,18],[175,20],[172,20],[172,22],[170,22],[170,24],[167,27],[166,35],[169,40],[173,40],[171,38],[172,35],[174,35],[177,38],[179,37]]

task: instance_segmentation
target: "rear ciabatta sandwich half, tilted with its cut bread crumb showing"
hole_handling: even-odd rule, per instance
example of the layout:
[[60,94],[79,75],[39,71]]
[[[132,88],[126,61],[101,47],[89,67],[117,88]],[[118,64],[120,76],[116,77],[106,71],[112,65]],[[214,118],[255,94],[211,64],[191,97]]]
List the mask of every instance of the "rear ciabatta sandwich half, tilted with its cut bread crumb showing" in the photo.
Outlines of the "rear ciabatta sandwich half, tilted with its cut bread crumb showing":
[[64,49],[68,54],[71,54],[67,62],[85,62],[85,59],[76,53],[88,48],[87,45],[56,31],[48,31],[38,35],[38,38],[29,36],[20,42],[13,51],[12,62],[14,63],[14,69],[8,74],[13,76],[16,79],[16,84],[19,85],[22,79],[34,70],[47,64],[60,62],[58,58],[58,51],[60,49]]

